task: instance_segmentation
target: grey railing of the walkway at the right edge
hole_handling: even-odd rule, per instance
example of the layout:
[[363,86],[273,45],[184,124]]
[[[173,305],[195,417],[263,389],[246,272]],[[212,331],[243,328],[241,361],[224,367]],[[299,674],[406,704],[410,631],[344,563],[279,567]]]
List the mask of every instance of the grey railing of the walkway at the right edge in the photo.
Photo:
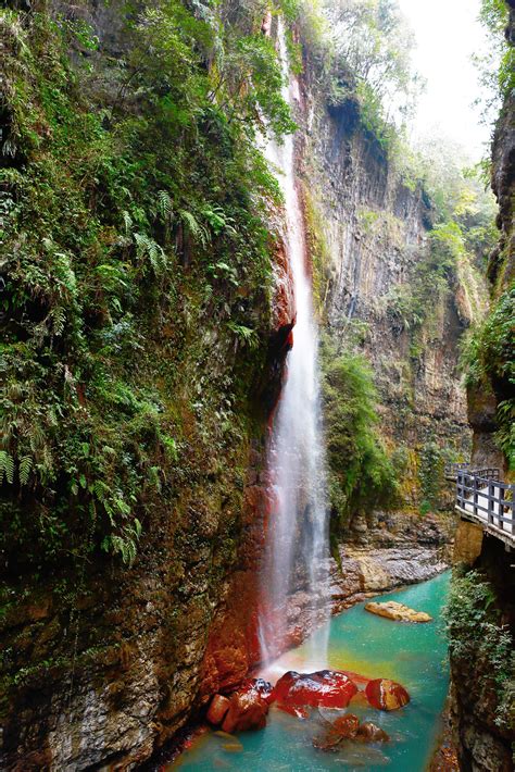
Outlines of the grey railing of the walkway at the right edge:
[[515,545],[515,485],[501,482],[498,469],[457,470],[456,509]]

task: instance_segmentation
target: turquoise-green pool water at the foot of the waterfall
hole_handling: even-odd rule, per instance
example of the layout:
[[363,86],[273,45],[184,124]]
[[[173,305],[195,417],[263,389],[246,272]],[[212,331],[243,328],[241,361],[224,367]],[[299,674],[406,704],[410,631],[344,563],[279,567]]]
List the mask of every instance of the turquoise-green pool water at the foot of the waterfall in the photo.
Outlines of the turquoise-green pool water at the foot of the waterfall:
[[[242,733],[236,742],[227,735],[209,733],[165,769],[318,772],[344,768],[372,772],[389,767],[395,772],[422,772],[438,739],[449,685],[441,622],[448,585],[449,574],[442,574],[381,596],[427,611],[435,620],[428,624],[381,619],[366,612],[363,603],[335,617],[329,623],[329,668],[351,670],[369,677],[393,678],[407,688],[412,701],[402,710],[386,713],[354,703],[348,709],[361,720],[367,719],[381,726],[390,735],[389,743],[365,746],[347,740],[336,754],[316,750],[312,739],[322,734],[323,725],[317,711],[314,711],[316,718],[300,721],[272,708],[265,730]],[[302,665],[306,664],[309,647],[306,643],[285,656],[278,671],[307,670]]]

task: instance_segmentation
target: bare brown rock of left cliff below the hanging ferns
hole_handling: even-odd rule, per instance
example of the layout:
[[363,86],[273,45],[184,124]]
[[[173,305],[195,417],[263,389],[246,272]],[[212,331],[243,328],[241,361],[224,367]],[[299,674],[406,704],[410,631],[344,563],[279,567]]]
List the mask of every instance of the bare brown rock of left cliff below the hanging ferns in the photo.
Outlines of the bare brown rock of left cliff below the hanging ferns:
[[[122,3],[77,7],[56,0],[34,5],[43,14],[62,13],[74,23],[92,25],[99,39],[98,50],[88,54],[97,76],[96,96],[111,104],[116,84],[102,62],[126,53]],[[24,4],[24,10],[28,13],[20,24],[2,24],[9,45],[9,35],[24,23],[30,25],[30,8]],[[53,61],[54,40],[51,35],[47,39]],[[70,51],[72,58],[75,53]],[[10,117],[2,110],[2,138],[9,136]],[[49,138],[46,129],[45,140]],[[91,200],[93,207],[92,195]],[[64,555],[49,564],[42,556],[27,557],[16,544],[2,553],[2,770],[129,770],[148,759],[202,701],[210,628],[224,603],[228,576],[246,580],[240,596],[241,586],[248,589],[238,619],[243,632],[236,626],[230,632],[237,655],[229,682],[247,672],[252,634],[244,625],[255,601],[246,572],[251,566],[255,577],[256,568],[255,552],[248,561],[241,545],[256,526],[259,533],[250,540],[259,545],[262,538],[259,475],[292,325],[284,249],[280,242],[271,249],[276,296],[268,297],[261,286],[243,298],[246,290],[233,286],[228,298],[239,306],[253,304],[260,331],[253,348],[228,336],[219,319],[202,310],[199,291],[205,287],[199,287],[188,265],[173,269],[178,311],[156,314],[152,328],[141,323],[137,341],[128,346],[133,369],[141,377],[148,374],[149,361],[160,363],[161,374],[151,388],[177,440],[175,460],[163,462],[166,474],[159,491],[142,497],[142,533],[134,564],[88,549],[90,531],[85,532],[77,562]],[[1,265],[3,272],[3,256]],[[259,302],[253,289],[259,290]],[[2,310],[0,324],[5,322]],[[14,520],[17,502],[5,487],[2,514]],[[78,533],[81,526],[76,524]]]

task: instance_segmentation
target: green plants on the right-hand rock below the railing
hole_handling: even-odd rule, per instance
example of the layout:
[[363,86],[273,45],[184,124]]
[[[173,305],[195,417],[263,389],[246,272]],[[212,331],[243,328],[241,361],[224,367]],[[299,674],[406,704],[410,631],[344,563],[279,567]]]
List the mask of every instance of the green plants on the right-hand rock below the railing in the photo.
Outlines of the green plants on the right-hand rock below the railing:
[[[515,729],[513,639],[502,623],[493,588],[481,573],[455,570],[445,619],[454,667],[475,663],[475,672],[491,684],[497,696],[497,724],[505,730]],[[481,689],[481,684],[478,688]]]

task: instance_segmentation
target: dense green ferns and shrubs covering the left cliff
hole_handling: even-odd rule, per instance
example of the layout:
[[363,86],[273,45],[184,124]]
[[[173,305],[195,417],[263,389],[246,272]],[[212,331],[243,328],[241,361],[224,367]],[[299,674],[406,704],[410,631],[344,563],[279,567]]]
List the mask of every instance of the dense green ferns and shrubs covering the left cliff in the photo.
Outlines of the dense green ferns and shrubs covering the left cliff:
[[243,441],[265,356],[279,194],[254,138],[293,124],[264,9],[129,11],[116,60],[84,23],[0,16],[0,519],[17,560],[101,545],[131,562],[191,449]]

